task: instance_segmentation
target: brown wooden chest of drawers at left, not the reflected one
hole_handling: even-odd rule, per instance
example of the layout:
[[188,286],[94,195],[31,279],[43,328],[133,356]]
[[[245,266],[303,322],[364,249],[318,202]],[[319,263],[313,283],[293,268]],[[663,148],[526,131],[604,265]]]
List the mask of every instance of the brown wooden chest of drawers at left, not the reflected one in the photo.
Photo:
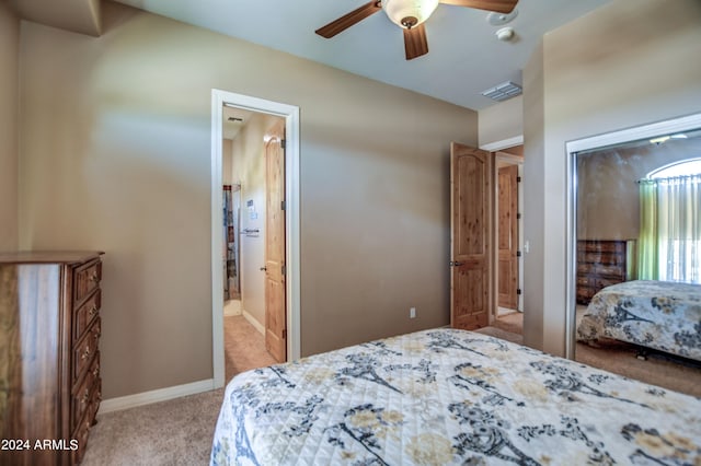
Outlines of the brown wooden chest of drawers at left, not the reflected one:
[[101,255],[0,254],[2,465],[82,458],[101,399]]

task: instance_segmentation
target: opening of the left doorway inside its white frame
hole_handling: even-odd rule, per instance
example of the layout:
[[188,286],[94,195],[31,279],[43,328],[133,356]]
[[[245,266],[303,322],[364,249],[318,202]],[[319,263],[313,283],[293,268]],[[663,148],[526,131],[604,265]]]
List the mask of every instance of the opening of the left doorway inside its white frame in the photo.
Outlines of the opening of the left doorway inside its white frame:
[[[269,256],[284,255],[284,247],[271,254],[268,244],[276,237],[285,238],[284,223],[268,221],[284,214],[277,212],[280,201],[271,200],[271,196],[279,197],[279,187],[272,187],[279,186],[277,172],[283,170],[275,171],[271,179],[267,165],[275,155],[271,145],[281,147],[284,141],[285,118],[231,104],[223,105],[222,114],[222,291],[228,382],[241,372],[285,360],[284,349],[267,343],[285,331],[268,331],[271,322],[285,321],[286,310],[284,300],[271,301],[267,295]],[[276,347],[280,346],[278,340]]]

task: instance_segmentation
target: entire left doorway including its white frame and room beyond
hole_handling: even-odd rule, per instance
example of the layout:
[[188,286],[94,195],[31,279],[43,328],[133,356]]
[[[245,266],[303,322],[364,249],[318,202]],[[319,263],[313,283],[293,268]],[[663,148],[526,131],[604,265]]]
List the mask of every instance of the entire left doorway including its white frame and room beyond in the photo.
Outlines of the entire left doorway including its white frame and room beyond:
[[[220,387],[232,371],[276,362],[266,351],[271,328],[283,346],[271,352],[278,360],[299,358],[299,108],[219,90],[212,90],[211,105],[212,362]],[[274,147],[286,155],[276,165],[277,197],[269,194],[275,164],[267,164]],[[271,242],[280,245],[275,264],[281,264],[272,291]],[[274,306],[281,316],[271,317]]]

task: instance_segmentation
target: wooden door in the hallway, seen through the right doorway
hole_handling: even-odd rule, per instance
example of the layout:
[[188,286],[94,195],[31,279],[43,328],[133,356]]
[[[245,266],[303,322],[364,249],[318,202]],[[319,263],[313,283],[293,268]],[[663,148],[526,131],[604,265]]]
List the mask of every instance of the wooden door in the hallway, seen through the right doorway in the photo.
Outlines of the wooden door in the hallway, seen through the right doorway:
[[518,165],[498,170],[498,305],[518,308]]

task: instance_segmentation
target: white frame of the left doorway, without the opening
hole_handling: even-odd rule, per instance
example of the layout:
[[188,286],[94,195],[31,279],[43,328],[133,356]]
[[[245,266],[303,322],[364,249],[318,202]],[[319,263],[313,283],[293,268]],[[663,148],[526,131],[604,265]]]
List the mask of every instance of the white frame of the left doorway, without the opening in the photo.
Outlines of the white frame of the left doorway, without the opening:
[[223,352],[223,273],[221,271],[221,242],[223,222],[221,212],[222,127],[223,105],[276,115],[285,118],[285,261],[287,305],[287,360],[300,358],[300,196],[299,196],[299,107],[218,89],[211,90],[211,340],[214,388],[225,384]]

